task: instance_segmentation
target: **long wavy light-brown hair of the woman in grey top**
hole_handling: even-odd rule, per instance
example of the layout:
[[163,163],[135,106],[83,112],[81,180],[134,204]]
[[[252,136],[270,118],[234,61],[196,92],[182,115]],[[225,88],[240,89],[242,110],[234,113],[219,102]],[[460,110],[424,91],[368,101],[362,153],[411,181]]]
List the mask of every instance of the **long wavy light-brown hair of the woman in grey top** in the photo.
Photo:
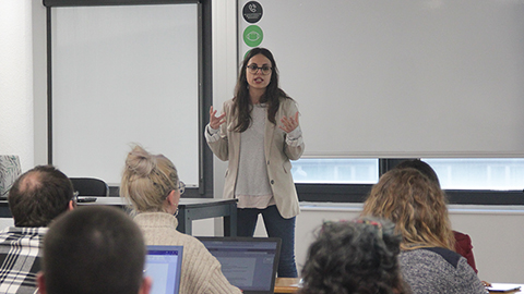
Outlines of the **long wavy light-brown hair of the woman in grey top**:
[[365,201],[362,216],[394,222],[403,236],[403,250],[454,250],[445,195],[436,182],[415,169],[395,169],[383,174]]

